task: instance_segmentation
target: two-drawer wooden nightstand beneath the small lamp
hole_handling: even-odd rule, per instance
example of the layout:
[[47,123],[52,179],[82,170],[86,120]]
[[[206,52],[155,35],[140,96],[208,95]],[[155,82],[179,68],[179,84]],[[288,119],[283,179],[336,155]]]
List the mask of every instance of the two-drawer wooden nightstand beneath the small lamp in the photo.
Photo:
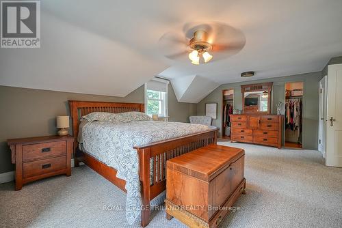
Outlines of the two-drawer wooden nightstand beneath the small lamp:
[[23,184],[53,175],[71,175],[74,138],[70,135],[8,139],[16,165],[16,190]]

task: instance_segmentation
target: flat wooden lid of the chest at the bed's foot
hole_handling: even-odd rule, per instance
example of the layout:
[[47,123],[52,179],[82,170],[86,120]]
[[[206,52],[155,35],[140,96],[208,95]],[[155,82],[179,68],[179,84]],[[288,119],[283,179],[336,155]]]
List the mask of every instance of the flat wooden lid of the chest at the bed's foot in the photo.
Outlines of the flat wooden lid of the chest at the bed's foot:
[[168,160],[166,167],[209,182],[244,154],[244,149],[207,145]]

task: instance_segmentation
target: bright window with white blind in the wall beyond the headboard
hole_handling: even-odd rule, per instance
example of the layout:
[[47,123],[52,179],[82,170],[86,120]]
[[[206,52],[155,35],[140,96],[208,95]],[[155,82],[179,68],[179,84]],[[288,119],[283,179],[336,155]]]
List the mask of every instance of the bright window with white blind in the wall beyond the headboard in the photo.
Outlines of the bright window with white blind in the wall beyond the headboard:
[[153,79],[145,85],[145,104],[148,115],[168,116],[168,81]]

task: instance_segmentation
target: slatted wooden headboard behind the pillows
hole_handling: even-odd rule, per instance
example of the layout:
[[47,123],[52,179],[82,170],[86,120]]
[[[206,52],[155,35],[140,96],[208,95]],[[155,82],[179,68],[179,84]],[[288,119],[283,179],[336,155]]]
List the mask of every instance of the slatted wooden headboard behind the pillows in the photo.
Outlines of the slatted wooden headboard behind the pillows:
[[[144,104],[137,103],[116,103],[116,102],[96,102],[69,100],[70,115],[73,121],[73,137],[77,138],[79,134],[79,123],[81,117],[88,113],[107,112],[124,113],[129,111],[144,112]],[[77,143],[77,140],[75,140]]]

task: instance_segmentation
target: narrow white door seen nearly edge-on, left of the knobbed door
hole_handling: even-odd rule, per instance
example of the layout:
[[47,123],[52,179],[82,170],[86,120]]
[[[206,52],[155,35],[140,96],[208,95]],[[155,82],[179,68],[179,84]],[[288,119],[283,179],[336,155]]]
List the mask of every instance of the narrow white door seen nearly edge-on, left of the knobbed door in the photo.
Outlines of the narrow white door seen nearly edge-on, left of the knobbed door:
[[318,124],[318,151],[326,157],[326,80],[324,76],[319,81],[319,124]]

